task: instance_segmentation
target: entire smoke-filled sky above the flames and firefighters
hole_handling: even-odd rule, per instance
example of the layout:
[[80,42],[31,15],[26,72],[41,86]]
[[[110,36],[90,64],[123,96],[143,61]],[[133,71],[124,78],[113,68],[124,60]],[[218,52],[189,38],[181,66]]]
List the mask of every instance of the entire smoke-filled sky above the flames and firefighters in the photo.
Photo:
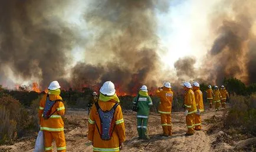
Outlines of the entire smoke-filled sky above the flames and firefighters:
[[[178,44],[160,48],[162,38],[175,31],[159,35],[159,27],[167,26],[161,25],[159,15],[172,14],[175,7],[169,1],[0,1],[1,84],[10,83],[12,77],[14,84],[16,79],[38,81],[42,89],[54,80],[66,89],[99,89],[110,80],[119,91],[134,94],[143,84],[158,87],[165,80],[173,85],[183,81],[220,85],[224,77],[256,82],[253,0],[211,4],[205,12],[209,26],[201,30],[209,33],[211,41],[192,55],[172,49]],[[74,9],[78,5],[81,8]],[[83,24],[68,21],[67,16],[78,12],[79,19],[74,19],[76,15],[72,19]],[[168,24],[175,24],[175,19]],[[182,34],[181,44],[188,44],[189,33]],[[82,58],[78,62],[73,57],[77,47]],[[170,56],[165,55],[168,52]]]

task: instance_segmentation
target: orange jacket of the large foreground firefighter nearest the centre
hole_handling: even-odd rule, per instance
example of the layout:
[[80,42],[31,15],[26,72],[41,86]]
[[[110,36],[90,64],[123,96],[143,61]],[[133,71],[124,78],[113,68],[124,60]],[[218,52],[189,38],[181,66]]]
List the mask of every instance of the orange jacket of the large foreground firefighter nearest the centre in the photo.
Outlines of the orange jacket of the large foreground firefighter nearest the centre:
[[[98,101],[101,110],[111,110],[111,108],[117,102],[114,100],[109,101]],[[93,104],[91,108],[90,118],[89,118],[89,131],[88,131],[88,140],[93,141],[93,150],[94,151],[119,151],[120,143],[125,141],[125,129],[124,129],[124,120],[122,108],[120,105],[117,106],[114,113],[114,120],[116,125],[110,140],[102,140],[100,138],[99,131],[97,130],[96,124],[100,127],[100,117],[97,112],[96,105]],[[100,128],[99,128],[100,130]]]

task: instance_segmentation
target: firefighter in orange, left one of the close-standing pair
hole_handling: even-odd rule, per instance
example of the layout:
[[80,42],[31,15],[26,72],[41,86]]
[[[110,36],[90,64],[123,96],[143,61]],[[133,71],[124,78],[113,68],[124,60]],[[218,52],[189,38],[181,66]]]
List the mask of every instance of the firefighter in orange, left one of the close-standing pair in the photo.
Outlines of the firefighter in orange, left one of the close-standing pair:
[[186,116],[186,126],[188,127],[188,132],[186,133],[186,136],[191,136],[194,134],[193,128],[195,127],[195,113],[197,111],[195,94],[191,90],[192,87],[189,82],[185,82],[183,84],[183,88],[186,91],[184,98],[184,105],[186,109],[184,115]]

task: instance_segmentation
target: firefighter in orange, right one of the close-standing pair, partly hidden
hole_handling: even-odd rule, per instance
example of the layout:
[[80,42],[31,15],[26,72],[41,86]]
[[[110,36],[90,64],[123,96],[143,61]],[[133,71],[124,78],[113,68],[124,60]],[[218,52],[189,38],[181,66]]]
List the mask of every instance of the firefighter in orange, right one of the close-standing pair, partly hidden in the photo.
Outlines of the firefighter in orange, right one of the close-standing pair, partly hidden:
[[204,101],[203,101],[203,93],[201,90],[199,90],[199,83],[193,82],[193,91],[195,94],[195,101],[196,101],[196,108],[197,111],[195,113],[195,130],[201,130],[201,113],[204,111]]

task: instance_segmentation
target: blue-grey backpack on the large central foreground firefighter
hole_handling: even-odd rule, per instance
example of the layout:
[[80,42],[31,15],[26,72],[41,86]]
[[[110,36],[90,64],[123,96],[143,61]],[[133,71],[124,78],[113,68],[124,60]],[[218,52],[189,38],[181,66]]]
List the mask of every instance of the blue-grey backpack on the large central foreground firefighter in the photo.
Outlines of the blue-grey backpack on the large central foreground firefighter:
[[102,140],[110,140],[114,131],[114,126],[116,125],[116,122],[113,119],[114,112],[119,104],[116,103],[110,111],[101,110],[98,102],[96,102],[95,105],[100,116],[100,129],[96,123],[100,138]]

